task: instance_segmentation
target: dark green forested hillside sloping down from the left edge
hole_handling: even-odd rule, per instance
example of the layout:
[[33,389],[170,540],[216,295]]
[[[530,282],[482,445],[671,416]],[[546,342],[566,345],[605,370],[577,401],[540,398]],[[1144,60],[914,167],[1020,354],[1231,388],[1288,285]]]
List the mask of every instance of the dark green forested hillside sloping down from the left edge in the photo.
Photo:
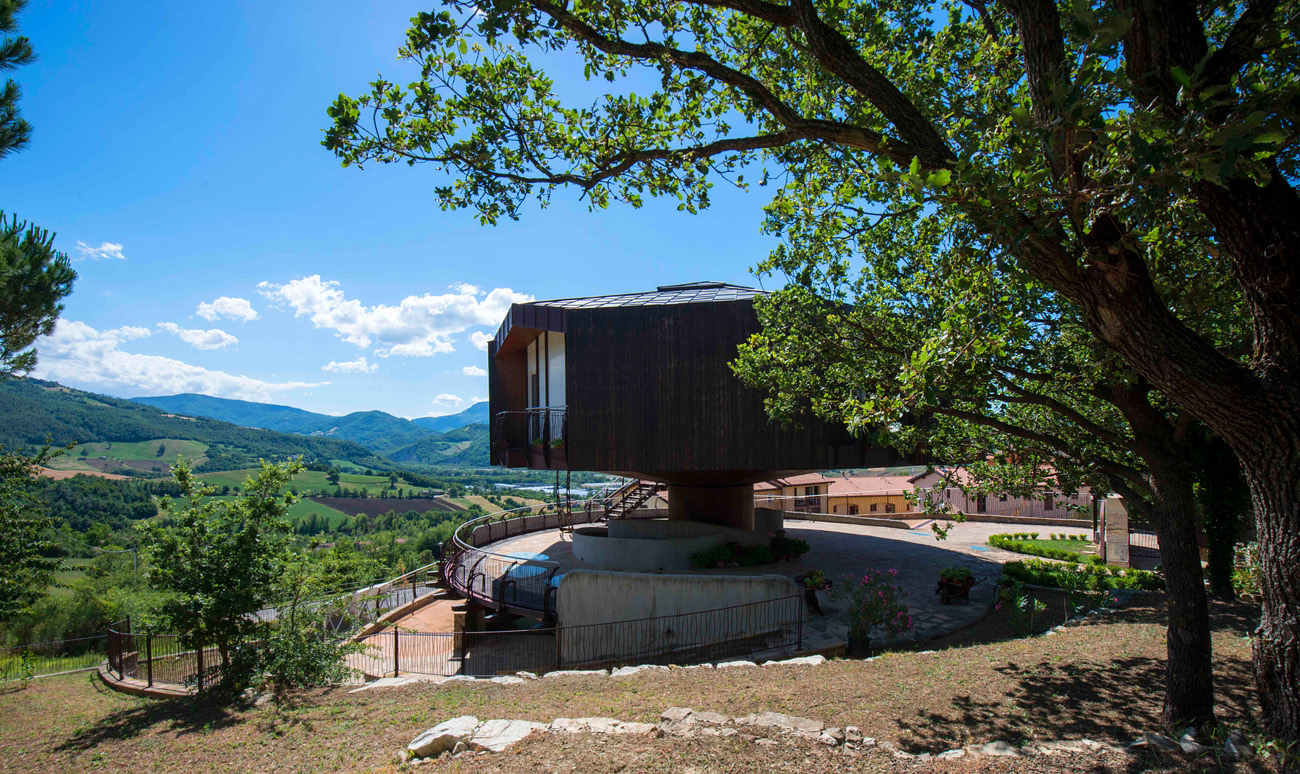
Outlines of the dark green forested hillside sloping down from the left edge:
[[[365,446],[341,438],[252,429],[87,393],[53,381],[0,381],[0,444],[8,447],[35,446],[47,438],[55,446],[82,444],[81,457],[87,466],[104,459],[122,460],[131,463],[125,467],[144,472],[165,470],[159,460],[174,459],[170,450],[177,447],[185,449],[190,459],[202,459],[199,467],[205,471],[238,470],[255,466],[259,458],[295,455],[303,455],[308,462],[342,459],[368,468],[393,467]],[[75,459],[64,458],[69,463]],[[90,467],[100,470],[104,466]]]

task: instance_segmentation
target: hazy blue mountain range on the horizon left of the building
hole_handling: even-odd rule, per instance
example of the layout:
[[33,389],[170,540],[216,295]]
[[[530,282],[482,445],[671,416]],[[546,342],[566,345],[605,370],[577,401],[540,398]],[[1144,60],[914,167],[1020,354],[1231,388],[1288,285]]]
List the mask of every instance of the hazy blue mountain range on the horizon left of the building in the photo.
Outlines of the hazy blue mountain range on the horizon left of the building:
[[[355,411],[344,416],[330,416],[291,406],[233,401],[194,393],[131,398],[131,401],[183,416],[204,416],[243,427],[300,436],[341,438],[360,444],[384,455],[400,451],[410,462],[421,464],[488,464],[486,425],[482,433],[471,433],[472,437],[462,434],[448,438],[443,436],[443,433],[454,433],[467,425],[486,423],[486,402],[474,403],[460,414],[450,416],[425,416],[411,420],[384,411]],[[474,445],[478,434],[484,436],[482,449],[476,447],[467,451],[471,445]],[[458,446],[458,449],[448,451],[451,446]],[[468,462],[469,458],[473,458],[473,462]]]

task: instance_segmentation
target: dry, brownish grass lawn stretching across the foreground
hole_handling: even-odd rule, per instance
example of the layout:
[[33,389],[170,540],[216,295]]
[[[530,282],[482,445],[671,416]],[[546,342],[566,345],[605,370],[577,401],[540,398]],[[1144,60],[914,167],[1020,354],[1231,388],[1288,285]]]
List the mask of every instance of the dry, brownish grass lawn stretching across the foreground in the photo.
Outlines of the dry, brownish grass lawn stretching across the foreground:
[[[828,726],[852,725],[915,753],[991,740],[1127,741],[1158,725],[1164,609],[1161,596],[1144,597],[1117,614],[1032,639],[1004,639],[1010,630],[1001,610],[924,645],[935,653],[890,653],[872,662],[573,676],[521,686],[412,684],[361,693],[337,688],[260,708],[142,700],[108,691],[88,675],[49,678],[0,695],[0,761],[6,771],[393,771],[394,751],[462,714],[653,722],[670,706],[728,715],[772,710]],[[1218,717],[1225,727],[1249,732],[1257,710],[1245,635],[1254,626],[1254,610],[1218,602],[1212,610]],[[419,770],[681,774],[688,766],[699,774],[1183,770],[1178,758],[1114,753],[920,762],[900,761],[884,751],[846,758],[815,743],[764,747],[736,738],[588,735],[546,735],[507,753],[442,760]]]

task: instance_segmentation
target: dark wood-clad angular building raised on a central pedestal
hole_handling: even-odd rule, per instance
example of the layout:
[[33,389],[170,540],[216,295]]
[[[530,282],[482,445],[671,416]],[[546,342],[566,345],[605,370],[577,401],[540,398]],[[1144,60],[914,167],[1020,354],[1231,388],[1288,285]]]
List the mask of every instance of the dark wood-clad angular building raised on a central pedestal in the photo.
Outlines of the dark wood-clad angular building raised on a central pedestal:
[[815,418],[768,420],[729,363],[762,291],[722,282],[514,304],[489,343],[493,464],[668,485],[671,518],[753,526],[753,484],[894,463]]

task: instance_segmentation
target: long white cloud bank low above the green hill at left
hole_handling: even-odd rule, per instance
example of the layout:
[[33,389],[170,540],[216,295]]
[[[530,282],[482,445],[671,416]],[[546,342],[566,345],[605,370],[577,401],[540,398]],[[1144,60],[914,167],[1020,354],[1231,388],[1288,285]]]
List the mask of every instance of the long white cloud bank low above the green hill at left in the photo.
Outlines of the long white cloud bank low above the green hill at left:
[[148,336],[143,328],[96,330],[84,323],[60,320],[53,333],[36,342],[40,364],[35,376],[136,394],[203,393],[243,401],[268,401],[289,390],[329,384],[264,381],[120,349],[124,341],[143,336]]

